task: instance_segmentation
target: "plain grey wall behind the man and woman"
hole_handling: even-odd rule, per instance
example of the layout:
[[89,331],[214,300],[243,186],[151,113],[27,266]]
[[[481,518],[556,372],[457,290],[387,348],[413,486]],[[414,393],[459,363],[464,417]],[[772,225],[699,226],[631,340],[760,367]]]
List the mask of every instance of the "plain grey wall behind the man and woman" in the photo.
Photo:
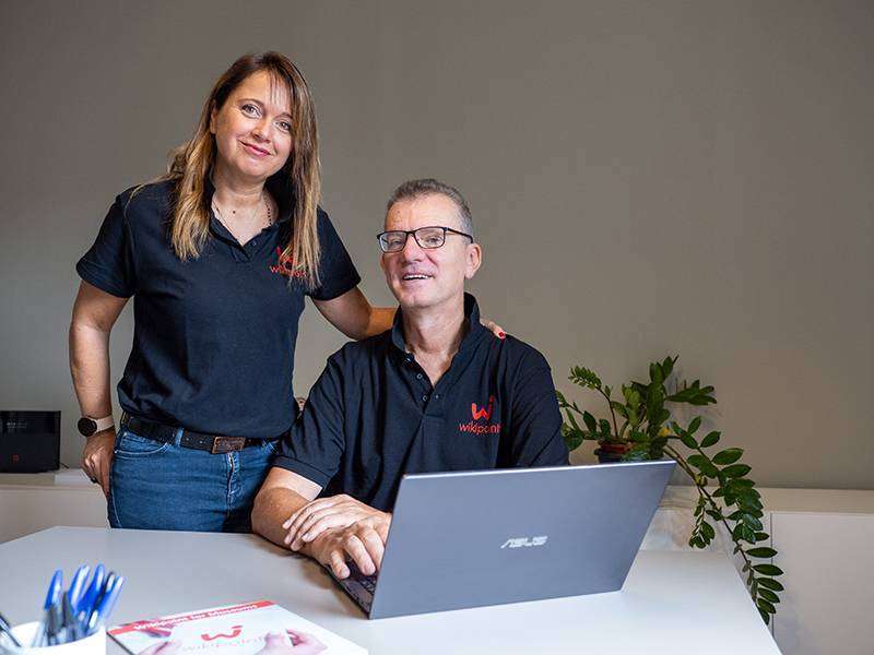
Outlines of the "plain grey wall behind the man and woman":
[[[872,7],[4,2],[0,405],[62,409],[76,462],[73,264],[218,73],[274,48],[315,91],[323,204],[374,302],[385,198],[444,178],[477,222],[484,313],[559,388],[680,354],[759,484],[874,488]],[[114,383],[130,340],[127,309]],[[298,393],[342,342],[310,308]]]

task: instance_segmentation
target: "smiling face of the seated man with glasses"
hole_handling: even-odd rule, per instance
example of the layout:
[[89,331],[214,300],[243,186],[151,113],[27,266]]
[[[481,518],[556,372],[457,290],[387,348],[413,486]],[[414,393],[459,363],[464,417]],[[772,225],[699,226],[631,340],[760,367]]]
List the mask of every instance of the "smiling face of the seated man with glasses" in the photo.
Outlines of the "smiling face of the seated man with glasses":
[[[456,204],[446,195],[429,194],[395,202],[386,215],[386,231],[441,226],[464,231]],[[482,250],[468,237],[446,234],[440,248],[422,248],[410,235],[399,252],[383,252],[386,282],[402,309],[426,309],[458,301],[464,281],[476,273]]]

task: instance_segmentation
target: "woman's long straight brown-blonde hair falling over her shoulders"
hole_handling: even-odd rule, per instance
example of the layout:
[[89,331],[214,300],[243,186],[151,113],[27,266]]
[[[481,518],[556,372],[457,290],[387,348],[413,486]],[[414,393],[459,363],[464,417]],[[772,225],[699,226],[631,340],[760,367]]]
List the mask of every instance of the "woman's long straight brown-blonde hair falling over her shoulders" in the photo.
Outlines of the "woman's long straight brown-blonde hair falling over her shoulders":
[[267,71],[274,84],[283,84],[292,99],[292,152],[275,174],[290,184],[292,229],[280,264],[290,278],[300,278],[309,287],[319,284],[319,234],[317,209],[321,192],[319,139],[316,107],[304,75],[279,52],[244,55],[225,71],[213,86],[191,141],[170,153],[167,174],[162,177],[176,183],[176,205],[170,239],[179,259],[197,258],[210,233],[210,207],[206,179],[215,164],[215,138],[210,132],[212,110],[220,111],[234,90],[249,75]]

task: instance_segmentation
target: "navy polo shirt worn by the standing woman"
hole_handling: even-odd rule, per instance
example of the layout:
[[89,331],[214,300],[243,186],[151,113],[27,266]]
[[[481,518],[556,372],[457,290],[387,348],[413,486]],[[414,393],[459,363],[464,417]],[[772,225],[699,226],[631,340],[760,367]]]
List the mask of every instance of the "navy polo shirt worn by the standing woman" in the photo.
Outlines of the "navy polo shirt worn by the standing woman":
[[[181,261],[169,239],[174,184],[119,195],[94,246],[76,264],[85,282],[133,296],[133,347],[118,384],[131,415],[209,434],[271,438],[297,414],[292,390],[304,296],[330,300],[361,278],[319,209],[320,286],[308,289],[280,265],[292,227],[292,194],[267,183],[277,221],[240,246],[211,212],[197,259]],[[206,203],[213,188],[208,183]]]

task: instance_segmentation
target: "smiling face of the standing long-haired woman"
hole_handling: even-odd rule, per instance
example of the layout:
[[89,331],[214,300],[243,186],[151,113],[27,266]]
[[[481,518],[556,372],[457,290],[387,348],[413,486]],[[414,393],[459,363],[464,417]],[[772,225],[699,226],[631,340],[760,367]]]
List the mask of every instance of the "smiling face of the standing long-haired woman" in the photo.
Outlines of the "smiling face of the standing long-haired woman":
[[223,175],[263,182],[283,167],[292,152],[288,90],[271,84],[267,71],[246,78],[210,116]]

